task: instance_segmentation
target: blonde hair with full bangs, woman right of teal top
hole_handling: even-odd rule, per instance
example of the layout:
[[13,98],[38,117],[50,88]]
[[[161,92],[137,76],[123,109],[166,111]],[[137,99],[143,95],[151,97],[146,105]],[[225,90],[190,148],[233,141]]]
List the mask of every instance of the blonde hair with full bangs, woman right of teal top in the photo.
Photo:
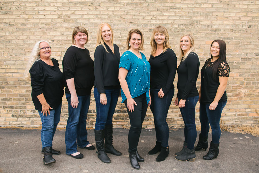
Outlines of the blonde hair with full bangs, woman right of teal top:
[[151,35],[151,55],[153,56],[153,54],[155,54],[156,50],[157,50],[157,43],[154,39],[155,34],[156,33],[162,33],[165,35],[165,41],[164,41],[164,45],[163,45],[163,52],[165,52],[168,48],[170,49],[170,41],[169,41],[169,34],[167,29],[164,26],[157,26],[153,29],[152,31],[152,35]]

